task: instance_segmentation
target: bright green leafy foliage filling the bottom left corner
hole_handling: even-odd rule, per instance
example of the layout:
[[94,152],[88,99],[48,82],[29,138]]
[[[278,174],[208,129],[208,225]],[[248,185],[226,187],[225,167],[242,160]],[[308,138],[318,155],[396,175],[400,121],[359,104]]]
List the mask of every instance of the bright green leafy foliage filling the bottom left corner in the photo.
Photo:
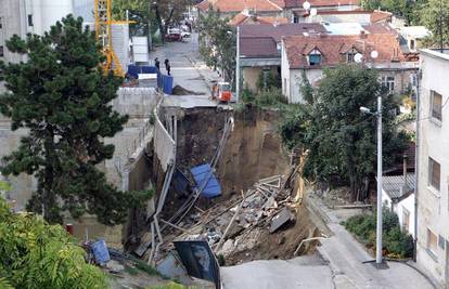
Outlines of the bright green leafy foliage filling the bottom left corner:
[[59,225],[14,214],[0,198],[0,288],[107,288],[105,276]]

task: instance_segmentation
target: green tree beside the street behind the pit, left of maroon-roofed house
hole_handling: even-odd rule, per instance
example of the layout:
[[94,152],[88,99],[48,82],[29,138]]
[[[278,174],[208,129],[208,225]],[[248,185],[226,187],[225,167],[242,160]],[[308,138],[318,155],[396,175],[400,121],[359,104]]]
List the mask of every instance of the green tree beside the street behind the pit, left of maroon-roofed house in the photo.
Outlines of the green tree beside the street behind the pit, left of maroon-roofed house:
[[233,82],[235,70],[235,28],[229,25],[229,19],[220,18],[220,12],[209,9],[207,15],[200,16],[201,31],[200,53],[206,65],[221,68],[224,79]]

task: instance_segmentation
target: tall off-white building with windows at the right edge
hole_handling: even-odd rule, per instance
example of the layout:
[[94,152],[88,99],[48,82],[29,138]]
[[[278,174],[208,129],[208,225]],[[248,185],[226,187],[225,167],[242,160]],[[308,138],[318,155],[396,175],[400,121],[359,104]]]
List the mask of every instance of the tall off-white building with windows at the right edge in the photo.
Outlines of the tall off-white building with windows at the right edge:
[[449,288],[449,52],[420,53],[416,262]]

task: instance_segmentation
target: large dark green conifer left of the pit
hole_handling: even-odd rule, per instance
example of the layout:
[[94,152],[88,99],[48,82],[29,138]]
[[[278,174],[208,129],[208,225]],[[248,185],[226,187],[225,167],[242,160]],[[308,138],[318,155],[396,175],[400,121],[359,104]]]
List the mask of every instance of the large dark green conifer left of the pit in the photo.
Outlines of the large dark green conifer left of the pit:
[[107,225],[124,222],[137,196],[116,191],[97,169],[114,153],[104,137],[127,121],[111,105],[123,79],[100,68],[104,57],[94,35],[69,15],[44,36],[14,36],[7,45],[28,61],[0,65],[8,89],[0,110],[11,118],[12,130],[26,128],[29,135],[4,157],[2,173],[36,176],[27,209],[41,213],[43,208],[50,223],[62,222],[63,211],[76,219],[97,214]]

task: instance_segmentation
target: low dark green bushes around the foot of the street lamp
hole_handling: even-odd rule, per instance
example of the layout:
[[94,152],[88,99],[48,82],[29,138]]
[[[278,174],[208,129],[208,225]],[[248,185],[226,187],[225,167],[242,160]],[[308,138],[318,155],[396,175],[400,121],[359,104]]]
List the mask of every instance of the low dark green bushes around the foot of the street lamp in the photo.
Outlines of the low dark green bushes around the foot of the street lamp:
[[[368,248],[375,248],[376,214],[359,214],[349,218],[344,226]],[[390,258],[411,258],[413,255],[413,237],[402,233],[398,216],[387,209],[382,212],[383,250]]]

